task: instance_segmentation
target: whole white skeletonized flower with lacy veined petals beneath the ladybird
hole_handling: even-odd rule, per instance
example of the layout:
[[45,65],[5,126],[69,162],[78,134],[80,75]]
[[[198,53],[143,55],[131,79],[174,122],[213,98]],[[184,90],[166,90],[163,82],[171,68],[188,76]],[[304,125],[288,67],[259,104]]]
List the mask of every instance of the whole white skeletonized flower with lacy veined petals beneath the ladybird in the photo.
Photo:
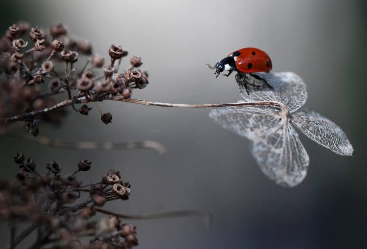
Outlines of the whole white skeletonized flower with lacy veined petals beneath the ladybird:
[[[223,128],[251,140],[251,153],[263,173],[277,184],[293,187],[306,176],[308,154],[293,128],[296,126],[313,141],[343,156],[353,147],[340,127],[311,110],[296,111],[307,100],[306,84],[293,72],[236,75],[239,102],[272,101],[276,106],[220,107],[209,117]],[[244,81],[251,82],[247,94]],[[246,91],[246,92],[245,92]]]

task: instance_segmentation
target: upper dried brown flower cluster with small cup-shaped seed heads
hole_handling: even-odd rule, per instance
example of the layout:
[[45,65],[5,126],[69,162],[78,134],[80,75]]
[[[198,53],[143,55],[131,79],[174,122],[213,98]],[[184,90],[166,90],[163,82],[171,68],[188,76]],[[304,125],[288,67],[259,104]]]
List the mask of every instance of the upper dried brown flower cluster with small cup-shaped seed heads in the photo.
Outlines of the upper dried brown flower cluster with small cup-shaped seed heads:
[[[75,63],[81,61],[80,55],[85,56],[86,64],[78,69]],[[55,106],[57,94],[67,94],[74,107],[81,97],[85,97],[84,103],[116,95],[129,99],[133,89],[147,86],[148,73],[138,69],[143,64],[140,57],[133,56],[130,66],[119,73],[121,60],[128,51],[111,45],[108,55],[110,63],[105,66],[105,58],[93,54],[91,42],[69,36],[62,23],[55,23],[48,30],[26,22],[9,26],[0,38],[0,119]],[[100,74],[96,70],[99,68],[103,70]],[[87,115],[91,108],[84,105],[74,110]],[[60,122],[63,113],[41,116]],[[37,136],[39,120],[35,116],[22,120],[28,123],[27,131]],[[101,113],[101,120],[108,124],[112,115]]]

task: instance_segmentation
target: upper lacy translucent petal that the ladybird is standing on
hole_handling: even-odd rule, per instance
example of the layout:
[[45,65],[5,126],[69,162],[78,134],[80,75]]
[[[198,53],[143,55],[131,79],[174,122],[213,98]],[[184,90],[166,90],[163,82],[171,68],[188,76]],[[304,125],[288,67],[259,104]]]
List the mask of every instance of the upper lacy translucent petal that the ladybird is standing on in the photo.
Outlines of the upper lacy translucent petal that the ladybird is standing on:
[[243,101],[279,101],[287,106],[291,113],[306,103],[306,84],[294,72],[259,72],[253,74],[265,79],[274,89],[271,89],[263,80],[256,79],[248,73],[243,73],[242,76],[248,82],[249,95],[246,92],[242,78],[237,74],[236,81]]

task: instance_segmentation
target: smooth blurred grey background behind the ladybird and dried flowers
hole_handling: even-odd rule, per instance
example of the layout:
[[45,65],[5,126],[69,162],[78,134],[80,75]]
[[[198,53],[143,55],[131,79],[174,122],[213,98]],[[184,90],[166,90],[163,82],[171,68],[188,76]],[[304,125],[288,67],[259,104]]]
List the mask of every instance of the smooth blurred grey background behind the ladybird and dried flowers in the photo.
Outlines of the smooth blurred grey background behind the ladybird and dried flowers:
[[[234,76],[215,78],[205,64],[241,47],[261,48],[271,56],[273,71],[294,71],[305,80],[305,106],[342,127],[354,156],[335,155],[300,135],[310,156],[308,175],[297,187],[283,188],[260,171],[249,141],[212,123],[208,109],[106,101],[100,108],[113,114],[112,124],[100,122],[92,106],[88,116],[70,112],[60,128],[42,124],[41,135],[65,141],[156,140],[168,154],[55,149],[2,136],[1,176],[10,179],[18,172],[12,162],[17,151],[38,167],[56,160],[64,173],[88,158],[92,179],[116,168],[132,183],[130,200],[110,203],[111,210],[204,209],[213,215],[210,227],[199,218],[132,221],[142,249],[364,248],[366,7],[364,0],[2,0],[1,33],[18,20],[43,28],[60,21],[71,34],[92,41],[93,51],[106,59],[111,44],[141,56],[150,84],[134,91],[140,99],[231,102],[238,96]],[[1,229],[3,246],[9,236],[6,224]]]

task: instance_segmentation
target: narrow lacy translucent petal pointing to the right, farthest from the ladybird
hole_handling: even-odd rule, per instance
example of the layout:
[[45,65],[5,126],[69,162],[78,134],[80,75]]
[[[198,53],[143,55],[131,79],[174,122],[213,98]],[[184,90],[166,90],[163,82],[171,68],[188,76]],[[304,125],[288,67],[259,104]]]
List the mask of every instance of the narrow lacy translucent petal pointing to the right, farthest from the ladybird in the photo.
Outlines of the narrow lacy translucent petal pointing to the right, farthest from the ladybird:
[[353,147],[342,129],[329,119],[311,110],[292,114],[291,122],[301,132],[336,154],[351,156]]

